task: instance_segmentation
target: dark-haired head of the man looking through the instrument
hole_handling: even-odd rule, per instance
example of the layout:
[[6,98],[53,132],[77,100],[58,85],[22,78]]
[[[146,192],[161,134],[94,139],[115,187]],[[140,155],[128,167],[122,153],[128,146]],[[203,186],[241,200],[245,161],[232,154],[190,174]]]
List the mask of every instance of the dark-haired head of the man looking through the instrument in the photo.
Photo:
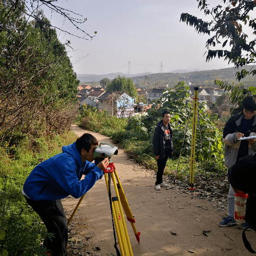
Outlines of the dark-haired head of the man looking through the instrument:
[[76,140],[76,148],[81,155],[82,162],[85,160],[93,162],[93,153],[98,144],[98,140],[90,133],[84,133]]

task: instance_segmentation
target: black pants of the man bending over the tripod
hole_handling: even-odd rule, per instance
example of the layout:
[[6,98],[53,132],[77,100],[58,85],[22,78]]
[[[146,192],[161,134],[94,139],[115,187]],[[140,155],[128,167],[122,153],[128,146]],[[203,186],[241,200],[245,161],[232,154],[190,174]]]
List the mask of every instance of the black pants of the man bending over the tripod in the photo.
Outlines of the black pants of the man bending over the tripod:
[[55,237],[47,239],[44,245],[52,251],[52,256],[63,256],[68,243],[68,224],[60,200],[34,201],[26,198],[26,201],[44,221],[47,232],[54,233]]

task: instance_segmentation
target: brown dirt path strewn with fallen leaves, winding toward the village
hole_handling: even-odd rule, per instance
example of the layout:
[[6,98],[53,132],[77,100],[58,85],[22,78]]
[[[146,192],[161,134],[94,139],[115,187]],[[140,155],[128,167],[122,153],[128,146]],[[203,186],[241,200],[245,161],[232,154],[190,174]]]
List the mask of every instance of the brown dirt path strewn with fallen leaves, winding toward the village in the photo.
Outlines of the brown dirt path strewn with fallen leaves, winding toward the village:
[[[115,145],[110,138],[99,133],[77,126],[73,126],[72,131],[78,136],[88,132],[100,142]],[[135,216],[137,231],[141,233],[139,244],[127,222],[134,256],[251,255],[244,247],[242,229],[238,226],[218,226],[226,212],[217,212],[212,202],[192,199],[193,191],[189,192],[190,196],[173,184],[170,184],[170,189],[155,190],[155,178],[151,171],[129,160],[121,148],[118,148],[118,155],[111,160],[115,163],[128,204]],[[77,203],[78,199],[72,197],[63,200],[68,218]],[[203,233],[204,230],[210,230],[208,236]],[[251,230],[246,234],[256,250],[256,233]],[[69,256],[116,255],[114,243],[109,200],[103,178],[87,192],[70,223]]]

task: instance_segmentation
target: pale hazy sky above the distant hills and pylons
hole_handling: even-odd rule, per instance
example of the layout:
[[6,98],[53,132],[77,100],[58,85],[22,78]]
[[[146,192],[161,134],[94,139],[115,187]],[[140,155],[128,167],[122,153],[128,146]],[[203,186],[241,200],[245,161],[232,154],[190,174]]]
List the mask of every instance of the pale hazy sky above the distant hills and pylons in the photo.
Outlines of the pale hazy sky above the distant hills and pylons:
[[[209,0],[212,7],[221,0]],[[61,42],[71,41],[68,49],[74,71],[78,74],[159,73],[172,70],[211,70],[228,66],[223,58],[206,62],[206,35],[180,23],[182,12],[205,19],[196,0],[58,0],[64,9],[87,18],[79,26],[94,35],[83,40],[58,32]],[[222,2],[223,3],[223,2]],[[60,15],[45,14],[51,23],[76,35],[82,35]],[[74,16],[74,15],[73,15]],[[88,38],[88,37],[87,37]]]

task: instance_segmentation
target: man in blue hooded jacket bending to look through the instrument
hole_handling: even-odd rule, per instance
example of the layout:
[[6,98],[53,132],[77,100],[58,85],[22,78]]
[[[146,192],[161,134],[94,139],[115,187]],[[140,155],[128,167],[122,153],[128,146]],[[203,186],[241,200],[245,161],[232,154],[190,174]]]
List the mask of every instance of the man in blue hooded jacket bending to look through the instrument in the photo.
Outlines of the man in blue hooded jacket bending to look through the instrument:
[[91,163],[97,145],[93,135],[83,134],[64,146],[62,153],[39,163],[24,183],[26,201],[42,218],[47,232],[54,233],[54,238],[43,243],[52,256],[63,256],[68,242],[67,219],[60,199],[69,195],[80,198],[102,178],[108,166],[108,158],[97,165]]

